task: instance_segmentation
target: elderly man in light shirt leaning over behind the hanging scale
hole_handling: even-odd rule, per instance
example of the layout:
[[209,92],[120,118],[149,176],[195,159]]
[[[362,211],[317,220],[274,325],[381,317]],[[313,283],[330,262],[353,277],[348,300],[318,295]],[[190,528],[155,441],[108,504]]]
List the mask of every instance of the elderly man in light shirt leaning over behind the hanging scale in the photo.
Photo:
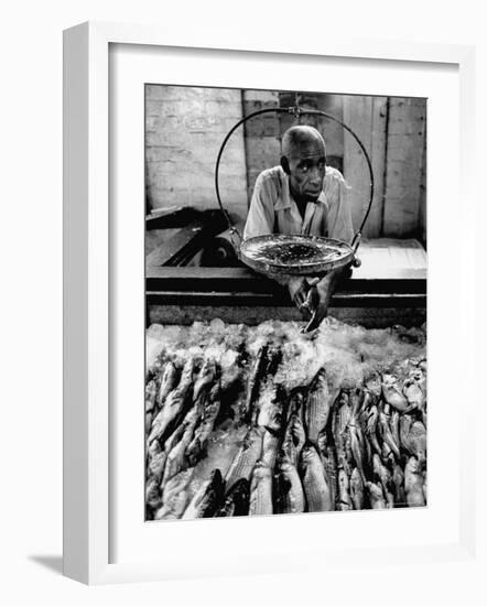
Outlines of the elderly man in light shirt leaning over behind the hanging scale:
[[[354,230],[346,192],[339,171],[326,166],[320,132],[307,126],[292,127],[282,137],[281,164],[257,177],[244,238],[300,234],[350,242]],[[316,285],[304,278],[286,281],[293,302],[313,314],[307,329],[326,316],[340,273],[331,271]]]

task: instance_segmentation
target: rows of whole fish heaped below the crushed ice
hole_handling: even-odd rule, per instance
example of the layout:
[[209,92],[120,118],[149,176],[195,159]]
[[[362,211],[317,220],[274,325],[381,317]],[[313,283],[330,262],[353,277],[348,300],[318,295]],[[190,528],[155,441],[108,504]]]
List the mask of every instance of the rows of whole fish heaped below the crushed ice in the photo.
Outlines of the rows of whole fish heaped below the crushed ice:
[[[422,333],[421,333],[422,334]],[[424,355],[368,368],[323,364],[288,388],[283,347],[235,362],[162,349],[147,374],[147,519],[426,505]]]

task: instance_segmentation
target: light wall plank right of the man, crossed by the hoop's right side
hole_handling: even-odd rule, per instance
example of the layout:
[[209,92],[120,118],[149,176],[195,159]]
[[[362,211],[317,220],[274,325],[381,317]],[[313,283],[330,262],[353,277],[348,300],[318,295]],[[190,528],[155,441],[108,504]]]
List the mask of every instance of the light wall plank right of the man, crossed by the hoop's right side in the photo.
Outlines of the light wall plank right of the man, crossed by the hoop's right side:
[[[386,159],[387,97],[344,96],[344,122],[366,148],[374,171],[375,193],[362,235],[377,238],[382,230],[383,173]],[[370,173],[364,152],[350,134],[344,139],[344,176],[351,187],[351,220],[358,229],[370,196]]]

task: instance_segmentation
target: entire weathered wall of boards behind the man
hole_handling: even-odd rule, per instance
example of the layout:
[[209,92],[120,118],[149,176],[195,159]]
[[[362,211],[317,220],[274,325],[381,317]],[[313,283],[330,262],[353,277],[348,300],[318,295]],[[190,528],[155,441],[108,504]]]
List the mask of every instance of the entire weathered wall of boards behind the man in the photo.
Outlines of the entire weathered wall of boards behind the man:
[[[375,195],[364,236],[426,239],[425,99],[299,93],[300,107],[326,111],[349,126],[369,153]],[[215,162],[224,137],[242,116],[290,107],[295,93],[151,85],[147,87],[148,207],[216,207]],[[369,201],[364,153],[339,125],[302,116],[326,140],[327,163],[350,186],[355,228]],[[246,216],[258,174],[279,162],[281,134],[291,113],[266,113],[230,138],[219,172],[225,206]]]

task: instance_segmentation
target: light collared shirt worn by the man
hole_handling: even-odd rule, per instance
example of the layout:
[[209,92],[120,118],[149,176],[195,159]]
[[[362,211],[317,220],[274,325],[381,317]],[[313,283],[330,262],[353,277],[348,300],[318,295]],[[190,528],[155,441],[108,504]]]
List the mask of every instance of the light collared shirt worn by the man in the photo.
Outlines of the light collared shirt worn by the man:
[[325,236],[349,244],[354,237],[347,196],[339,171],[326,166],[323,190],[316,203],[309,202],[302,217],[290,192],[282,166],[260,173],[244,230],[244,239],[269,234]]

